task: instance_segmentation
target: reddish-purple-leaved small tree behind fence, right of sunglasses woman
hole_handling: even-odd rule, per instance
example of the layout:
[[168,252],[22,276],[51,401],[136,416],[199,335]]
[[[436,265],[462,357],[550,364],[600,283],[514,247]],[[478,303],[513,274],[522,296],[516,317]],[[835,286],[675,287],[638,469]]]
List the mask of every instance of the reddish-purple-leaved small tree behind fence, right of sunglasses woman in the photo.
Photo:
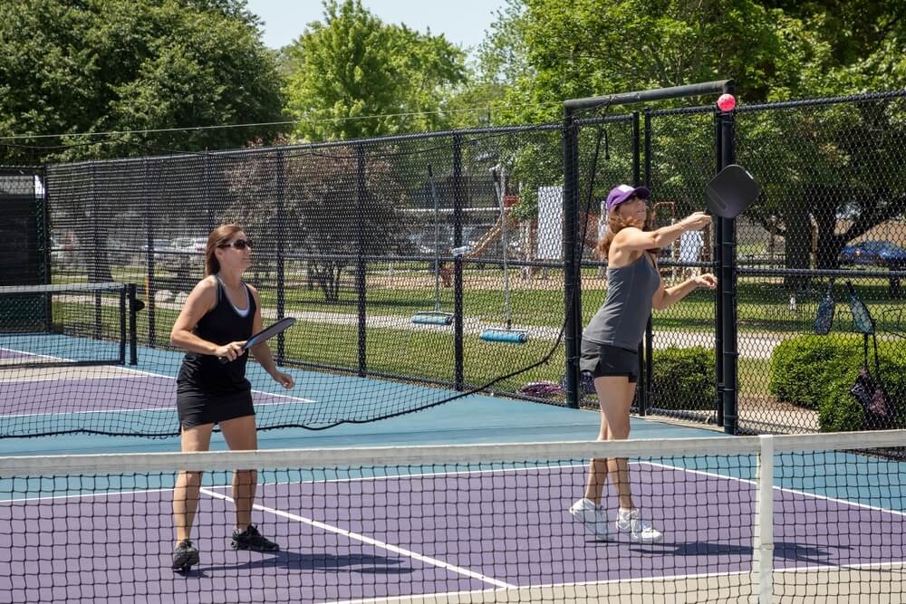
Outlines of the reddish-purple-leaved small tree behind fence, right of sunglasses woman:
[[227,169],[226,179],[225,216],[272,244],[282,238],[284,254],[304,256],[309,284],[326,302],[340,301],[356,254],[384,254],[398,243],[402,187],[390,162],[367,158],[361,146],[255,154]]

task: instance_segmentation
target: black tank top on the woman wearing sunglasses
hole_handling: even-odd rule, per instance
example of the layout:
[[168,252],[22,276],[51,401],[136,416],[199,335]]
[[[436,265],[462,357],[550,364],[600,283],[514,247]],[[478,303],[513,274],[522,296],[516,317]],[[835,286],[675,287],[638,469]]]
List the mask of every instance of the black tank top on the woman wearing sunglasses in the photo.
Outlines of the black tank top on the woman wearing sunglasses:
[[[205,313],[192,331],[202,340],[223,345],[231,341],[248,340],[252,335],[252,321],[255,319],[255,296],[243,283],[248,295],[248,312],[241,316],[233,308],[220,278],[215,277],[217,283],[217,303],[210,311]],[[252,389],[246,379],[246,361],[248,353],[238,359],[221,363],[220,360],[209,354],[187,352],[179,368],[177,382],[184,386],[194,386],[210,392],[243,392]]]

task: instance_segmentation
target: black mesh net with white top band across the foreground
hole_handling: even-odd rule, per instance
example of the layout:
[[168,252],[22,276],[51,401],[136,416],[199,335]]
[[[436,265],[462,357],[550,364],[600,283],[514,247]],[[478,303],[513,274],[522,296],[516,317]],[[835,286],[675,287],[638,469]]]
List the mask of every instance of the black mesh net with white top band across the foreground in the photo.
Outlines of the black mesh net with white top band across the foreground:
[[[906,432],[0,458],[4,601],[879,601],[903,575]],[[664,532],[568,512],[628,457]],[[233,551],[232,471],[258,468]],[[197,566],[171,570],[178,469],[204,471]]]

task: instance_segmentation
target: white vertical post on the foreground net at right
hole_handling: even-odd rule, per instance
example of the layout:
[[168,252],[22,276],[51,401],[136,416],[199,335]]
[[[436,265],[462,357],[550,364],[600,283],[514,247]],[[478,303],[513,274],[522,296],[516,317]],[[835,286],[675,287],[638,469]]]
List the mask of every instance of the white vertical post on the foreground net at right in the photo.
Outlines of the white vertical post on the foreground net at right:
[[758,436],[755,513],[752,525],[752,598],[774,599],[774,436]]

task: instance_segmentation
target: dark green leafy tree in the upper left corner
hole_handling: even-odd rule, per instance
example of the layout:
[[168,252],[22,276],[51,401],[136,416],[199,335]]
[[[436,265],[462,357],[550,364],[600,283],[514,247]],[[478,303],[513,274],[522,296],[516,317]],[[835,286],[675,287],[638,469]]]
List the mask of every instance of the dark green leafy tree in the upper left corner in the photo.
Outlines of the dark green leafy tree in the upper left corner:
[[217,127],[280,120],[280,90],[245,0],[0,3],[4,163],[241,147],[276,132]]

